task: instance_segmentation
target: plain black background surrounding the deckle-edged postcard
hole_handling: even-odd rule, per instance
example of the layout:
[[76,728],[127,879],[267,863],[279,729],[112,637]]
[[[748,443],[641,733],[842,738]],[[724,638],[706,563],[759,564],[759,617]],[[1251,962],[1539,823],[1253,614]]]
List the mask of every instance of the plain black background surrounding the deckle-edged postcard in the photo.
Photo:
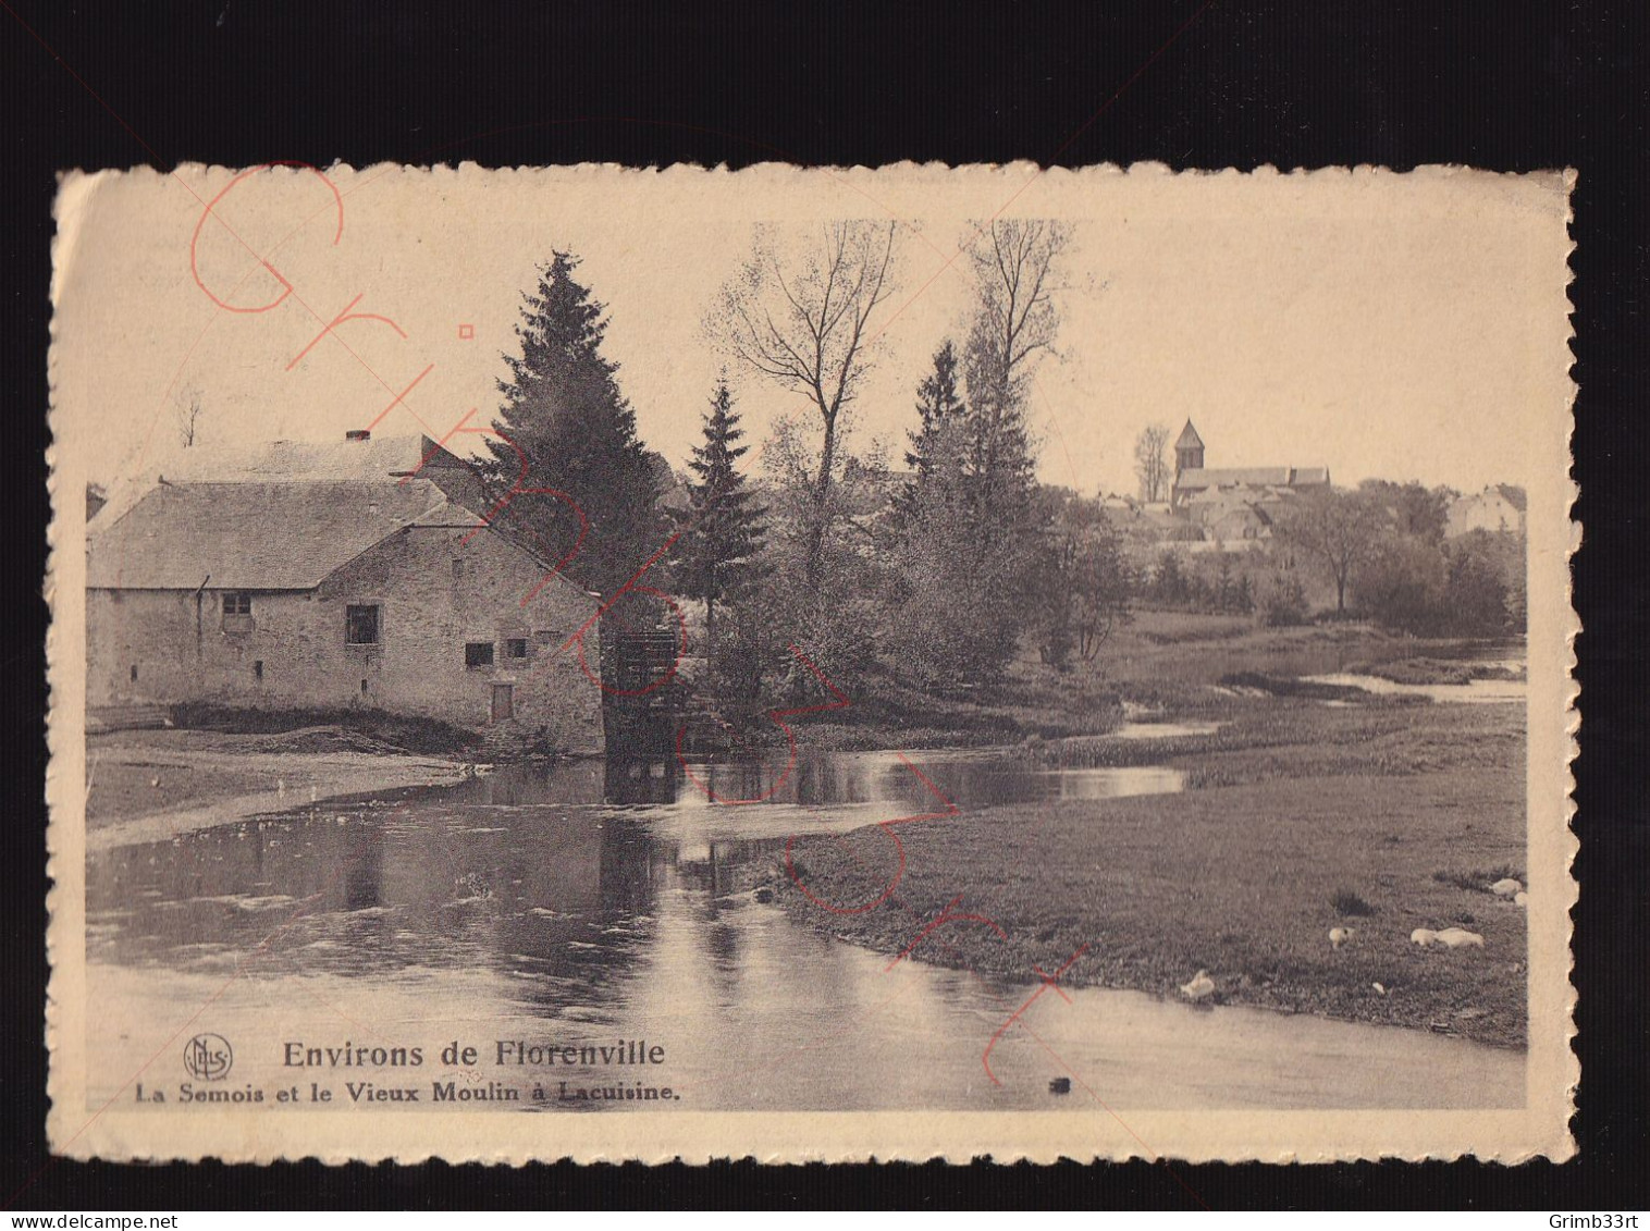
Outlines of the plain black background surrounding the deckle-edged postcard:
[[[0,607],[0,1203],[284,1206],[1643,1206],[1647,863],[1642,5],[1313,0],[800,7],[0,0],[8,218]],[[1563,1167],[116,1167],[45,1150],[45,568],[54,172],[198,160],[1576,167],[1582,1059]],[[106,408],[119,414],[120,408]],[[71,498],[78,495],[71,493]]]

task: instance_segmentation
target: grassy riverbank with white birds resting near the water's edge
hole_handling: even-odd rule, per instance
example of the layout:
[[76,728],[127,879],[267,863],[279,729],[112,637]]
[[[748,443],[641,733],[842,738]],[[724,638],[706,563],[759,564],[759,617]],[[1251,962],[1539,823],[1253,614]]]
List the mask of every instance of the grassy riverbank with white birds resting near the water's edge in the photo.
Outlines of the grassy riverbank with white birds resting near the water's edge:
[[[1204,969],[1213,1002],[1523,1046],[1523,908],[1488,891],[1525,873],[1523,708],[1242,701],[1173,748],[1092,741],[1186,769],[1185,794],[901,825],[899,888],[860,914],[820,908],[780,861],[766,884],[795,919],[888,954],[959,894],[954,911],[1006,934],[945,926],[914,950],[924,962],[1031,982],[1082,949],[1061,982],[1175,997]],[[815,898],[856,906],[891,851],[866,827],[799,840],[794,868]],[[1353,936],[1333,947],[1332,927]],[[1422,949],[1417,927],[1483,947]]]

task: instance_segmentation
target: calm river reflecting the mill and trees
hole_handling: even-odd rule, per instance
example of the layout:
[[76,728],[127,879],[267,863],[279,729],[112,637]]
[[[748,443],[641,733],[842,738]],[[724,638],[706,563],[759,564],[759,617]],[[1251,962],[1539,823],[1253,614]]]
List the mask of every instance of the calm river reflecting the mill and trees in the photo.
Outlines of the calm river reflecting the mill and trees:
[[[1150,766],[909,757],[970,809],[1183,785]],[[512,767],[92,853],[91,1003],[127,1008],[92,1015],[91,1102],[213,1031],[233,1040],[236,1081],[251,1082],[315,1076],[285,1069],[287,1043],[417,1043],[424,1068],[389,1076],[427,1084],[480,1071],[439,1064],[447,1041],[487,1053],[498,1040],[645,1040],[663,1063],[634,1076],[701,1111],[1523,1104],[1521,1053],[1099,988],[1041,997],[992,1046],[988,1074],[987,1045],[1031,987],[916,962],[889,970],[739,881],[792,833],[932,809],[906,762],[823,752],[789,769],[777,757],[690,771]],[[764,802],[713,805],[695,779]],[[1051,1092],[1059,1078],[1071,1094]]]

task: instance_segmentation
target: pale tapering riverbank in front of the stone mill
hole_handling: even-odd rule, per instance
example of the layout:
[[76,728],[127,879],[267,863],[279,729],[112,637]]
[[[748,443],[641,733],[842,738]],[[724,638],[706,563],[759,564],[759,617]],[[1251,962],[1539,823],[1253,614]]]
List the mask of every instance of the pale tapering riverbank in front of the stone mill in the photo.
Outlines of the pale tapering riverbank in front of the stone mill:
[[86,739],[86,848],[158,842],[295,804],[460,781],[465,762],[358,733],[116,731]]

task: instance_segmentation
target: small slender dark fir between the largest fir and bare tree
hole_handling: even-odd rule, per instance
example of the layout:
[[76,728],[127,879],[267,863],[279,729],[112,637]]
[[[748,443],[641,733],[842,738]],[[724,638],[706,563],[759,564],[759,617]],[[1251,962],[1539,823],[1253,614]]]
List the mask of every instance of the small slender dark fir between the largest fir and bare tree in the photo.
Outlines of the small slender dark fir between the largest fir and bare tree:
[[728,380],[718,380],[711,413],[705,416],[705,444],[688,462],[698,482],[688,483],[688,508],[678,518],[676,589],[705,601],[705,635],[714,652],[716,604],[744,596],[756,579],[754,556],[762,546],[762,513],[751,503],[744,475],[734,462],[749,452],[733,409]]

